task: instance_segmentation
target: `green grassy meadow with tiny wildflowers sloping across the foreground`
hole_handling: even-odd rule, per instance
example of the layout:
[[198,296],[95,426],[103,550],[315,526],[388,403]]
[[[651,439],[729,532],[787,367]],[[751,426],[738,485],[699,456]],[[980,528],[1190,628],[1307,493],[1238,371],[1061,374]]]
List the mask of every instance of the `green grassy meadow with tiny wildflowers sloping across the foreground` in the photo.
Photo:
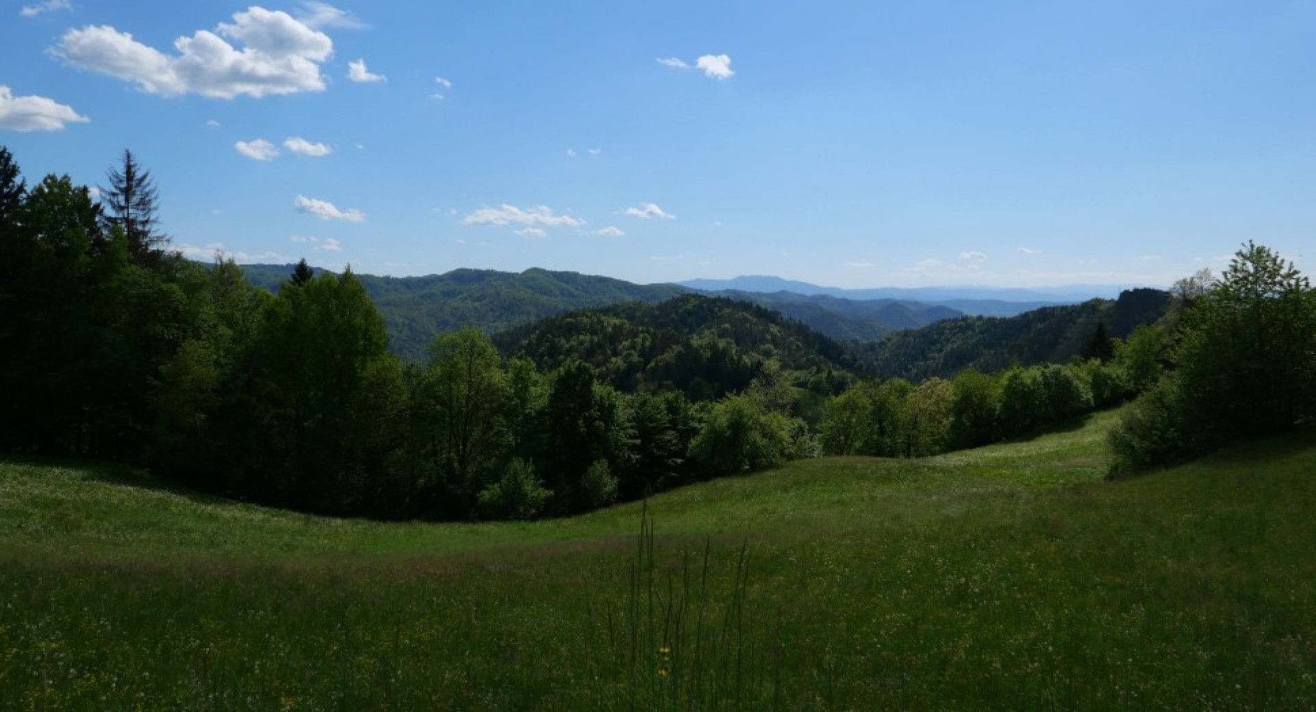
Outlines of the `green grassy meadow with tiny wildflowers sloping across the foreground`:
[[0,709],[1316,707],[1316,436],[1105,482],[1113,418],[525,524],[0,461]]

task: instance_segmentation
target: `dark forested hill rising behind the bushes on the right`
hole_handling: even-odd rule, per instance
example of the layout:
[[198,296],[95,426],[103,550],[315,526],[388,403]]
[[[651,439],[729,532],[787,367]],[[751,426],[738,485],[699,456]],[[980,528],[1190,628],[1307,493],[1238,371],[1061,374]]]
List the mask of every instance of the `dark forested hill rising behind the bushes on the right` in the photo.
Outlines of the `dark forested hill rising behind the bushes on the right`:
[[1063,363],[1083,353],[1099,324],[1108,336],[1124,338],[1169,309],[1167,292],[1130,289],[1117,300],[1048,306],[1017,317],[946,319],[854,348],[859,361],[883,378],[949,378],[966,368],[988,373],[1016,361]]

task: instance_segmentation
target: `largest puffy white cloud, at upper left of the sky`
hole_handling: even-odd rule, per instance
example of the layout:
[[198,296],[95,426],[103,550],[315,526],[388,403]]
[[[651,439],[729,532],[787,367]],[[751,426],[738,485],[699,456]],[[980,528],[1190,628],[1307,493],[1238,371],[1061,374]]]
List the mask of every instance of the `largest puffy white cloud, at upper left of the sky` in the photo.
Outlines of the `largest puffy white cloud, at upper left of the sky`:
[[179,37],[174,49],[178,54],[166,55],[129,33],[99,25],[66,32],[51,51],[147,93],[233,99],[324,91],[320,63],[333,55],[333,41],[286,12],[251,7],[215,32]]

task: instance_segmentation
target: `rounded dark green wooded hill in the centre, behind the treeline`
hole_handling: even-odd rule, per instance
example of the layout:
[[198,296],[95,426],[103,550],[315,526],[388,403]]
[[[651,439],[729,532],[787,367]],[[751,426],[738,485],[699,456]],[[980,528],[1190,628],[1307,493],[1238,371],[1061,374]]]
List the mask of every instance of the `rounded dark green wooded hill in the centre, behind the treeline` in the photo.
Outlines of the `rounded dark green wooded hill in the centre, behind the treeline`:
[[850,380],[854,363],[837,342],[774,310],[699,294],[574,311],[494,340],[541,370],[579,359],[619,390],[679,390],[692,401],[741,391],[765,369],[826,394]]

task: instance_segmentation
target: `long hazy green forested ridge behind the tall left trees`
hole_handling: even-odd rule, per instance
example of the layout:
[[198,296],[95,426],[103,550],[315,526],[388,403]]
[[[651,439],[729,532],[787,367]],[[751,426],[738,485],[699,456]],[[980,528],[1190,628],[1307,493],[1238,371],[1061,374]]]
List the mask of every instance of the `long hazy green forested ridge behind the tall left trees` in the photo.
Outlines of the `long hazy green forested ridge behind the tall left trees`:
[[[245,264],[257,286],[278,290],[293,265]],[[438,334],[475,326],[488,332],[576,309],[625,301],[657,302],[687,292],[672,285],[638,285],[576,272],[454,269],[425,277],[357,275],[384,318],[391,348],[420,360]]]

